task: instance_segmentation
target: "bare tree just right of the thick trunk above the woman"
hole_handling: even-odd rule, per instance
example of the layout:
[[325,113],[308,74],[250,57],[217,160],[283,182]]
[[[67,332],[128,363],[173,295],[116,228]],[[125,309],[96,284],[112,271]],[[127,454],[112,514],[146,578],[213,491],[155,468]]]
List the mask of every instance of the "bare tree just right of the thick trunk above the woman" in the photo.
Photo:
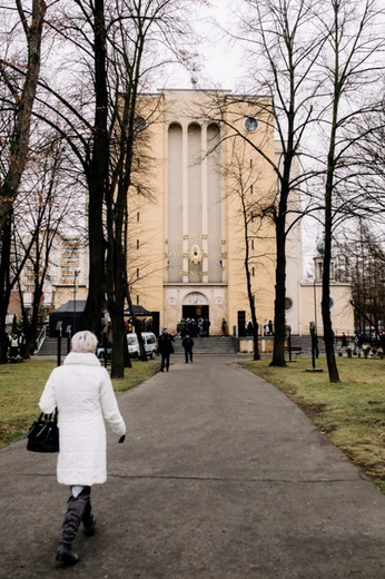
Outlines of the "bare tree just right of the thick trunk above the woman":
[[[107,296],[112,321],[113,351],[112,375],[122,375],[124,354],[127,350],[124,331],[125,300],[129,296],[127,279],[128,204],[132,183],[132,159],[144,139],[146,127],[151,124],[155,109],[147,110],[146,118],[138,114],[139,95],[148,86],[154,69],[166,58],[178,58],[178,39],[189,33],[185,13],[178,0],[148,0],[118,2],[111,18],[108,41],[111,46],[108,81],[111,105],[110,135],[115,150],[111,151],[110,183],[106,195],[107,207]],[[160,49],[160,58],[156,51]],[[164,53],[162,53],[164,52]],[[142,145],[141,145],[142,150]],[[140,192],[144,194],[145,192]],[[137,325],[140,338],[140,331]]]

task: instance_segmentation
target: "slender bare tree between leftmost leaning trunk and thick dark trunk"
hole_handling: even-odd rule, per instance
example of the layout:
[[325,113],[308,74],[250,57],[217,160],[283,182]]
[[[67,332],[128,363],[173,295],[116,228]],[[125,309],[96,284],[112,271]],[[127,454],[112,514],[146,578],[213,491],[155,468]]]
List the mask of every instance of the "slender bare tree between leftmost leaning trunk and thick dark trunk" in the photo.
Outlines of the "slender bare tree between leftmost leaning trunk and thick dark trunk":
[[[79,204],[70,181],[60,140],[42,135],[31,144],[28,167],[14,204],[11,290],[19,288],[26,356],[33,351],[39,330],[46,279],[58,233],[71,230],[80,219]],[[76,215],[75,215],[76,214]],[[79,228],[81,235],[81,228]],[[28,279],[30,303],[26,304]]]

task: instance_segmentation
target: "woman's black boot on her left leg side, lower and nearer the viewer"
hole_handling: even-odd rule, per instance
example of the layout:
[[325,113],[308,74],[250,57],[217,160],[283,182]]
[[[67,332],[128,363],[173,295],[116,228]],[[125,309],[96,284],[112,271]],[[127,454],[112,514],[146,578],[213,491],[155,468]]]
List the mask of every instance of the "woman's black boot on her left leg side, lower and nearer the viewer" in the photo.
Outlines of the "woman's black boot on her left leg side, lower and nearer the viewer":
[[[77,536],[80,522],[89,504],[89,518],[90,514],[90,487],[85,487],[78,497],[71,497],[68,499],[67,512],[62,523],[61,539],[59,549],[56,555],[56,560],[63,563],[65,566],[75,565],[79,561],[77,553],[72,551],[72,543]],[[93,520],[93,518],[92,518]]]

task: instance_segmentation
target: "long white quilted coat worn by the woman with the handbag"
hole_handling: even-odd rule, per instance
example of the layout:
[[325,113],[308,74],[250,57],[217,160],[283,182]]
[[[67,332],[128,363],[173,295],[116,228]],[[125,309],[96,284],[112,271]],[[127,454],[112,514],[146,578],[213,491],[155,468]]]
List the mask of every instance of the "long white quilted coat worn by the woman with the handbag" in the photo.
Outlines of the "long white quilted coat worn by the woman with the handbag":
[[58,408],[60,452],[58,481],[91,487],[107,479],[105,420],[126,434],[109,374],[95,354],[71,352],[48,379],[39,406]]

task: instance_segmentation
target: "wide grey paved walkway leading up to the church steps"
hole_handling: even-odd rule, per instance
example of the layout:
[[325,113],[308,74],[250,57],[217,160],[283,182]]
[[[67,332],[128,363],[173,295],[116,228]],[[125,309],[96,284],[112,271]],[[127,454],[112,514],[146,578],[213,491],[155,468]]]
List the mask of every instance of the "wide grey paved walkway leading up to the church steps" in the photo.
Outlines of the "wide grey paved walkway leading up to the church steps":
[[172,357],[119,396],[92,489],[98,532],[55,553],[68,489],[56,457],[0,451],[1,579],[384,579],[385,497],[237,357]]

